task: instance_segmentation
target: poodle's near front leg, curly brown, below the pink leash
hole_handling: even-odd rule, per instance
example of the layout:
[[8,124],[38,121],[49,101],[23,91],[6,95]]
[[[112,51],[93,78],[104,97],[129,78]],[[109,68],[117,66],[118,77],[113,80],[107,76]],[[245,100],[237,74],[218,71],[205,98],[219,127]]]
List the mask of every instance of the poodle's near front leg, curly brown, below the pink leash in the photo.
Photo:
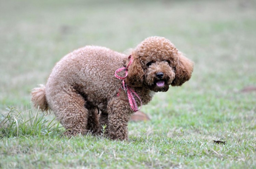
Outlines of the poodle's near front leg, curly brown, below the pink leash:
[[128,139],[128,121],[132,111],[129,106],[127,95],[120,94],[112,98],[108,103],[108,134],[109,138],[116,140]]

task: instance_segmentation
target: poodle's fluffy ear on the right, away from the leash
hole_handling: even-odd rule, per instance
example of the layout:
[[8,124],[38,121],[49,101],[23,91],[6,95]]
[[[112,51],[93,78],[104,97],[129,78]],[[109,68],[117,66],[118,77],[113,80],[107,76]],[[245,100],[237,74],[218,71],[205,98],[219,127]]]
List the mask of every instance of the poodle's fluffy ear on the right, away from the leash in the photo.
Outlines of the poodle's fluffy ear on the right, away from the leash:
[[193,72],[194,63],[183,56],[182,53],[177,53],[177,64],[175,69],[175,78],[172,81],[172,86],[181,86],[184,82],[188,81]]

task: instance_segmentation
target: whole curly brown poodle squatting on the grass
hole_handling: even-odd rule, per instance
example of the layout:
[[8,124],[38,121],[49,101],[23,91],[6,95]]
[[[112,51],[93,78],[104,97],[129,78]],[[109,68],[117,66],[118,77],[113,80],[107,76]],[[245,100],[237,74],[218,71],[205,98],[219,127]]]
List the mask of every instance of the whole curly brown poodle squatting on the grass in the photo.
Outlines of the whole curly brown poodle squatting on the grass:
[[169,85],[181,86],[192,72],[193,62],[163,37],[145,39],[130,57],[85,46],[55,65],[46,86],[31,92],[32,102],[42,111],[53,110],[67,135],[100,133],[105,125],[105,134],[123,140],[138,106],[146,105],[155,92],[166,92]]

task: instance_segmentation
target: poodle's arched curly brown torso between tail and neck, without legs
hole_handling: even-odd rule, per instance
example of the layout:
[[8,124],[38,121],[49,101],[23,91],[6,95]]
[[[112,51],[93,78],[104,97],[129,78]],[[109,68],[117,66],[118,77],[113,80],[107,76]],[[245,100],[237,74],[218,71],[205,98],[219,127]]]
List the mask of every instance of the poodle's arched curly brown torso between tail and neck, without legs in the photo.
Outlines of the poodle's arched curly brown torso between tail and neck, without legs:
[[73,87],[92,102],[100,102],[116,93],[120,80],[115,70],[127,56],[99,46],[85,46],[63,57],[53,68],[46,83],[46,99],[59,90]]

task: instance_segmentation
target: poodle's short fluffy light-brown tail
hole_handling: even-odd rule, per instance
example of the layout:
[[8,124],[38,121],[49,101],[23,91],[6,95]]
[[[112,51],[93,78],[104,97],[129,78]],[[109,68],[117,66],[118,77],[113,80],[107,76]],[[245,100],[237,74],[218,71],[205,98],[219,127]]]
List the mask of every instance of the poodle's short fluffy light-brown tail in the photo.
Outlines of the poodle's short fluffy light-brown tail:
[[42,111],[48,110],[48,104],[45,96],[45,86],[40,84],[38,88],[34,88],[31,92],[31,101],[33,102],[34,107],[38,107]]

